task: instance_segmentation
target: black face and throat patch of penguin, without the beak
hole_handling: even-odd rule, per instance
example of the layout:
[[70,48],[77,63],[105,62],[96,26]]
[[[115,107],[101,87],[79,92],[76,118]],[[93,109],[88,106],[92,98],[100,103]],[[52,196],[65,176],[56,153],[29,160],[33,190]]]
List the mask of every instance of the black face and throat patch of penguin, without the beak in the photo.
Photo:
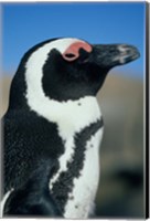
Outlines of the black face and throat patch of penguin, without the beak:
[[52,50],[43,66],[42,86],[45,96],[58,102],[95,96],[108,70],[76,60],[66,62],[60,52]]

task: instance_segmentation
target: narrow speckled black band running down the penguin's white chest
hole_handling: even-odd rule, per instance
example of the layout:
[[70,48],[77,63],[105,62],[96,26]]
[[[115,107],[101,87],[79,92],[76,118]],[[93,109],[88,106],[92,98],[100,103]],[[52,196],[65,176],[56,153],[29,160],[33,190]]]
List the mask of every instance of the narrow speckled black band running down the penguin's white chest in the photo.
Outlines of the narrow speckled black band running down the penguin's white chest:
[[52,188],[52,194],[61,207],[62,211],[64,211],[64,206],[68,199],[68,193],[73,190],[74,178],[79,178],[81,176],[85,160],[86,143],[100,127],[103,127],[103,119],[90,124],[81,133],[75,135],[75,151],[73,155],[73,160],[67,162],[67,171],[61,172],[60,178]]

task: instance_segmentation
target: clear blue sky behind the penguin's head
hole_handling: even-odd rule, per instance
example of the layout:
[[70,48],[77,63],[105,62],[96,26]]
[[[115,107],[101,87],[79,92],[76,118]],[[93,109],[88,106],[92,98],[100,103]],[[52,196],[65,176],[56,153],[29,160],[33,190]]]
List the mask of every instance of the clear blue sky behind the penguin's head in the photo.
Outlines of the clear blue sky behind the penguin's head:
[[41,41],[75,36],[89,43],[136,45],[141,57],[116,70],[142,77],[144,7],[144,2],[3,3],[3,71],[15,71],[24,52]]

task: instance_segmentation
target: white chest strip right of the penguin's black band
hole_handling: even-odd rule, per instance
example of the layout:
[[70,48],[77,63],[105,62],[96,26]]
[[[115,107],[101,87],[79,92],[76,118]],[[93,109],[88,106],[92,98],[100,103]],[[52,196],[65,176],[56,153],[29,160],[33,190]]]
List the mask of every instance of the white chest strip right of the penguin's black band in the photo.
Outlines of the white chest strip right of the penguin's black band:
[[86,219],[94,210],[94,200],[99,181],[99,141],[98,130],[86,144],[83,168],[78,177],[73,179],[73,189],[68,193],[64,217],[68,219]]

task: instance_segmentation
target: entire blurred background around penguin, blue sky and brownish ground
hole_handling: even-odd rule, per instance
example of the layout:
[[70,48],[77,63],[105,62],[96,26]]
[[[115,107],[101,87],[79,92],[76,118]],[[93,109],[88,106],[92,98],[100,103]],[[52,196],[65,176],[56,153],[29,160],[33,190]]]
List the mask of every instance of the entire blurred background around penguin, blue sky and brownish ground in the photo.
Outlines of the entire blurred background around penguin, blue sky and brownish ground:
[[96,218],[142,218],[144,2],[3,3],[0,116],[7,110],[11,80],[20,59],[51,38],[75,36],[90,43],[128,43],[141,57],[115,67],[97,95],[105,131]]

